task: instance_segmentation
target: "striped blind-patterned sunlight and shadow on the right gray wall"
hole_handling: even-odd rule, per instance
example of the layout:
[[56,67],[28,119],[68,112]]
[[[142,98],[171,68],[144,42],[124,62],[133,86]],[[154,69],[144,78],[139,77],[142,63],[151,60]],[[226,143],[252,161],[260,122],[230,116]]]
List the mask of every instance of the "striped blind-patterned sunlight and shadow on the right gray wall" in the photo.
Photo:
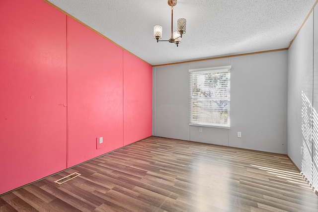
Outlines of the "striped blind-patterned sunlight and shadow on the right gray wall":
[[301,171],[318,188],[318,114],[302,91],[302,167]]

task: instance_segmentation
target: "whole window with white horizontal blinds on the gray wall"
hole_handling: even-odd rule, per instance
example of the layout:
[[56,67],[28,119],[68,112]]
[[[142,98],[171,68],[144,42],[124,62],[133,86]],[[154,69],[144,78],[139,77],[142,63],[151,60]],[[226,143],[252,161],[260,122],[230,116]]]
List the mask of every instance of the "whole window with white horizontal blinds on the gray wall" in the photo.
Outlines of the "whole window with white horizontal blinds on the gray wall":
[[192,69],[190,125],[230,127],[231,66]]

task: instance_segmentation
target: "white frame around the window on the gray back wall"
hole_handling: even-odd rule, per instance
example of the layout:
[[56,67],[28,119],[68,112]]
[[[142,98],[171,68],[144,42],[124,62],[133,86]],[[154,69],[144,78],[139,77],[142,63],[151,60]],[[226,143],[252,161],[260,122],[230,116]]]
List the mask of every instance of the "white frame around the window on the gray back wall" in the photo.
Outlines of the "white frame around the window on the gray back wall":
[[[203,68],[203,69],[190,69],[189,70],[189,106],[190,106],[190,113],[189,113],[189,125],[190,126],[200,126],[200,127],[213,127],[213,128],[226,128],[230,129],[231,127],[231,113],[230,113],[230,108],[231,108],[231,68],[232,66],[222,66],[222,67],[212,67],[212,68]],[[200,124],[200,123],[192,123],[192,113],[193,113],[193,105],[192,105],[192,90],[193,90],[193,72],[217,72],[217,71],[228,71],[229,73],[229,78],[228,78],[228,124],[223,125],[223,124],[216,124],[216,123],[211,123],[211,124]]]

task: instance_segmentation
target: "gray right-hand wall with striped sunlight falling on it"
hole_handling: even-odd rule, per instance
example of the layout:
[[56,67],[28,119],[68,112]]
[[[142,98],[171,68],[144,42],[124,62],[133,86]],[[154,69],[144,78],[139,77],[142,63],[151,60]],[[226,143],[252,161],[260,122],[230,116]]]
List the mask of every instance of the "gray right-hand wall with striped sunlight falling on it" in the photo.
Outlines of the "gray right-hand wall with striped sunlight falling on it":
[[288,155],[316,188],[318,188],[317,67],[318,7],[316,6],[288,50],[287,133]]

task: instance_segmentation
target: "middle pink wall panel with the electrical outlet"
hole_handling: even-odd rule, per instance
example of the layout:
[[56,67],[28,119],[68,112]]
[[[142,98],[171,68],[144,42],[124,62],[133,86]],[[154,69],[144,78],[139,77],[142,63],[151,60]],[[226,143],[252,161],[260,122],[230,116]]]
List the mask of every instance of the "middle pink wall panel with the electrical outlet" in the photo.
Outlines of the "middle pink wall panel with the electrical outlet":
[[123,146],[123,50],[70,17],[67,43],[71,167]]

